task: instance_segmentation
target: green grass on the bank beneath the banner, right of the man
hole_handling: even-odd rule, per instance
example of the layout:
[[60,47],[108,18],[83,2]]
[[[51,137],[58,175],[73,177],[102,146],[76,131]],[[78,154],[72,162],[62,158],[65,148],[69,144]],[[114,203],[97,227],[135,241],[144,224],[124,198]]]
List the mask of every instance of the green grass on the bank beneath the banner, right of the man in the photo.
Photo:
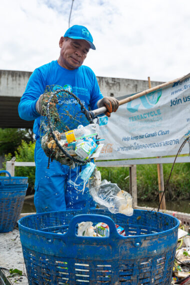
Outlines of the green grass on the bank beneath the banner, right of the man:
[[[172,164],[163,164],[164,185],[169,177]],[[112,183],[129,191],[128,167],[98,167],[101,172],[101,179],[106,179]],[[190,198],[190,163],[176,163],[173,167],[168,187],[165,191],[166,200],[189,199]],[[136,165],[136,181],[139,200],[158,199],[158,180],[156,164]]]

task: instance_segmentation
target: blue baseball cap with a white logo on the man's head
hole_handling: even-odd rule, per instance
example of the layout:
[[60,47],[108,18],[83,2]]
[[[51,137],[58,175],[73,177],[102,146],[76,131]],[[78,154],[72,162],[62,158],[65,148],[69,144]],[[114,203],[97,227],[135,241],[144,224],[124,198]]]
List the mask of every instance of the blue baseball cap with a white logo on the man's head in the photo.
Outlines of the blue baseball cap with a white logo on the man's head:
[[66,30],[64,36],[67,36],[67,37],[70,37],[70,38],[75,38],[75,39],[84,39],[84,40],[86,40],[89,43],[91,49],[95,49],[91,33],[83,25],[75,24],[75,25],[69,27]]

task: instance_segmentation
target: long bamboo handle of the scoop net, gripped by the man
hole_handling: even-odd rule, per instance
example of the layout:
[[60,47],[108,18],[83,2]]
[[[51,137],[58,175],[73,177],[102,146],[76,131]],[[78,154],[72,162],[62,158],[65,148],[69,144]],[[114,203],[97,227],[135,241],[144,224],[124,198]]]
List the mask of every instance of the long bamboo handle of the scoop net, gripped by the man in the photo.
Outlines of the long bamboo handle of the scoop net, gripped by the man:
[[[182,77],[173,79],[173,80],[171,80],[171,81],[164,82],[164,83],[162,83],[162,84],[156,85],[156,86],[154,86],[154,87],[152,87],[152,88],[149,88],[149,89],[146,89],[146,90],[144,90],[144,91],[142,91],[142,92],[136,93],[136,94],[134,94],[134,95],[132,95],[132,96],[130,96],[130,97],[124,98],[124,99],[122,99],[122,100],[119,101],[119,106],[120,106],[120,105],[123,105],[123,104],[125,104],[125,103],[127,103],[127,102],[130,102],[130,101],[132,101],[132,100],[134,100],[134,99],[136,99],[136,98],[139,98],[139,97],[141,97],[141,96],[143,96],[143,95],[146,95],[146,94],[148,94],[148,93],[150,93],[150,92],[153,92],[153,91],[155,91],[155,90],[157,90],[157,89],[159,89],[159,88],[163,88],[163,87],[166,87],[166,86],[168,86],[168,85],[170,85],[170,84],[172,84],[172,83],[175,83],[175,82],[177,82],[177,81],[180,81],[180,80],[186,78],[187,76],[190,76],[190,73],[188,73],[188,74],[186,74],[186,75],[184,75],[184,76],[182,76]],[[100,108],[98,108],[98,109],[93,110],[92,112],[93,112],[94,116],[99,115],[99,114],[101,114],[101,113],[106,112],[106,107],[100,107]]]

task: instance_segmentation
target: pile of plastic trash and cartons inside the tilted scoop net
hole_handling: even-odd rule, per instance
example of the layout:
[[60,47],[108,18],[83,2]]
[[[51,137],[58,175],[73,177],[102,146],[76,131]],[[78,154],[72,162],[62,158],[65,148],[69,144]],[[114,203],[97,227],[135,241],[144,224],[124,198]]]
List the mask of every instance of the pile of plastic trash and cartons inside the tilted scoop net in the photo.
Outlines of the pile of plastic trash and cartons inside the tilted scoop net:
[[41,137],[41,147],[51,161],[55,159],[61,164],[74,167],[74,161],[83,164],[83,161],[99,156],[103,144],[97,144],[96,135],[94,123],[78,125],[76,129],[65,132],[54,130]]

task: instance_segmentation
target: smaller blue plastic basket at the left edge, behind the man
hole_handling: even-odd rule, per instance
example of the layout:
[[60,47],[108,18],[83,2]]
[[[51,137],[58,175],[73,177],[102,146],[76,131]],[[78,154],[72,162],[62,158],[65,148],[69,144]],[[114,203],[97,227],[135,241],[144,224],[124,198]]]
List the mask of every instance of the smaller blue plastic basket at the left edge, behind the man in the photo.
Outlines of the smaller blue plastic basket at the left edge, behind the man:
[[8,177],[0,176],[0,232],[8,232],[20,216],[28,184],[27,177],[11,177],[8,171],[3,172]]

